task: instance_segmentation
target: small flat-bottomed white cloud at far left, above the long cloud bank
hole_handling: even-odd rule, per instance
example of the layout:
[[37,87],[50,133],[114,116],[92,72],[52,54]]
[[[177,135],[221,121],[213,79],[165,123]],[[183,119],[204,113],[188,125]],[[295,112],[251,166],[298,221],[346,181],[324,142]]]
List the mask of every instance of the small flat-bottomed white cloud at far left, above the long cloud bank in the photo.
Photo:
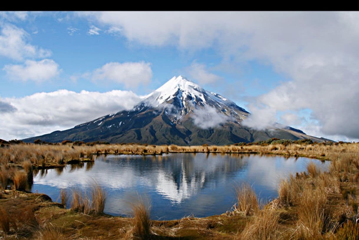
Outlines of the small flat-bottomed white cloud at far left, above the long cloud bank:
[[24,64],[8,64],[3,70],[12,80],[43,82],[60,73],[59,65],[51,59],[26,60]]

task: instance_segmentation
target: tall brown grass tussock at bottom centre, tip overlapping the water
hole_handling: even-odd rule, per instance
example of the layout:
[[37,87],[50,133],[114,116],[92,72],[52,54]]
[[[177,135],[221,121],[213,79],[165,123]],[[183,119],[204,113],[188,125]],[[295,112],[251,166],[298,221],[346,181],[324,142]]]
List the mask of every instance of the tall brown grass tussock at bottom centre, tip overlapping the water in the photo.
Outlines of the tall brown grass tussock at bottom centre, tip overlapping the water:
[[149,239],[152,226],[149,203],[146,204],[143,198],[139,196],[137,201],[131,203],[131,209],[134,216],[132,219],[133,235],[141,239]]

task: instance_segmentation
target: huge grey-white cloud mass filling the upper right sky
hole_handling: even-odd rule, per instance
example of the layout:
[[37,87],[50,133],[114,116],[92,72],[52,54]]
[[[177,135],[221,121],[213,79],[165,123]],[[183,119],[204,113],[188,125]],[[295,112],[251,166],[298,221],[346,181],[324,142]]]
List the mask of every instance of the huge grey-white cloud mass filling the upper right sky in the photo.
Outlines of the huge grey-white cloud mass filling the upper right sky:
[[[96,12],[80,13],[129,41],[183,50],[208,47],[223,62],[269,63],[290,79],[250,103],[254,122],[280,111],[312,110],[321,133],[359,138],[359,13]],[[231,86],[233,87],[233,86]],[[289,118],[287,118],[288,120]],[[297,120],[294,120],[297,121]],[[248,124],[251,124],[249,120]],[[253,125],[253,124],[252,124]],[[310,133],[310,132],[309,132]]]

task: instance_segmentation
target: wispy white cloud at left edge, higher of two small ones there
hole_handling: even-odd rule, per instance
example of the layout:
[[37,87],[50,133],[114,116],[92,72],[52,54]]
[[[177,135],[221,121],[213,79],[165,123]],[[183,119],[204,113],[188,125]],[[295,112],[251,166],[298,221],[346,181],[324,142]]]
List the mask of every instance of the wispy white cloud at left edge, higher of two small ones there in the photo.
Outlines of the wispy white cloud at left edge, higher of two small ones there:
[[22,28],[10,24],[1,26],[0,55],[14,60],[23,60],[25,57],[46,58],[51,55],[50,50],[29,44],[28,39],[29,34]]

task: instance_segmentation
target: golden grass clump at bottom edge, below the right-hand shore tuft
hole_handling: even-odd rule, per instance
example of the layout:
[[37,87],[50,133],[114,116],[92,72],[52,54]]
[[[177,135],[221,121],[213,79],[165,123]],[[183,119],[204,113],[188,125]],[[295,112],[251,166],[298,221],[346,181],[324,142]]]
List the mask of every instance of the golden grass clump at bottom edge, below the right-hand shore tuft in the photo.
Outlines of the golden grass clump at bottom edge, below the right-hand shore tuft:
[[284,239],[284,236],[279,231],[278,221],[279,212],[275,210],[265,209],[257,211],[241,232],[239,239]]

